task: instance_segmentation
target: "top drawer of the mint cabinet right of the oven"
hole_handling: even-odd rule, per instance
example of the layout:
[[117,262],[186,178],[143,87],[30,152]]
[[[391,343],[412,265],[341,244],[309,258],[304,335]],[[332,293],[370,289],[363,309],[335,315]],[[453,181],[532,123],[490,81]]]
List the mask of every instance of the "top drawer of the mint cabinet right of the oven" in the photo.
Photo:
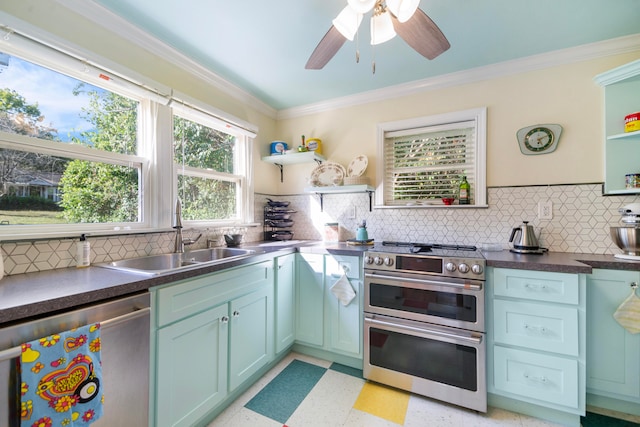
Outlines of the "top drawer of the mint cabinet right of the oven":
[[493,273],[493,292],[496,296],[578,304],[578,285],[577,274],[504,268],[496,268]]

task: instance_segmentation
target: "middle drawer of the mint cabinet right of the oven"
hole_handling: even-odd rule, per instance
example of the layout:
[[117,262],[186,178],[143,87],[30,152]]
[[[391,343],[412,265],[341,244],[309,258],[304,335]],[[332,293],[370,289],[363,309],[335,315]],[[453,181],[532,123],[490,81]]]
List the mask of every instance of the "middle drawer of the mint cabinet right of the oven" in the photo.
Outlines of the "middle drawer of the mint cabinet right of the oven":
[[536,303],[493,301],[494,340],[578,356],[578,309]]

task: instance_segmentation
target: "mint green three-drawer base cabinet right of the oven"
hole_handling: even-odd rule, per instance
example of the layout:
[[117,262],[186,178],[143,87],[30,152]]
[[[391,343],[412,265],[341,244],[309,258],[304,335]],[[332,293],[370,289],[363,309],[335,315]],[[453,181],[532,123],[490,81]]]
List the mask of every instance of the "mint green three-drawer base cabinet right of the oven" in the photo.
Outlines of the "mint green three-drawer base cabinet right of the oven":
[[585,287],[581,274],[487,269],[487,389],[527,403],[505,409],[580,424],[586,407]]

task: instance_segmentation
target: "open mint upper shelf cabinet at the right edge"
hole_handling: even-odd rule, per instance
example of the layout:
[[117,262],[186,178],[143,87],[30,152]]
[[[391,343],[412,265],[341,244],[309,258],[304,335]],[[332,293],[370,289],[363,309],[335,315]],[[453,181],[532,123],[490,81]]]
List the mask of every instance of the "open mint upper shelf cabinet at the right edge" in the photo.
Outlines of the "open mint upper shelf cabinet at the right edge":
[[625,132],[625,116],[640,111],[640,60],[595,77],[604,87],[605,176],[603,193],[636,194],[625,176],[640,174],[640,131]]

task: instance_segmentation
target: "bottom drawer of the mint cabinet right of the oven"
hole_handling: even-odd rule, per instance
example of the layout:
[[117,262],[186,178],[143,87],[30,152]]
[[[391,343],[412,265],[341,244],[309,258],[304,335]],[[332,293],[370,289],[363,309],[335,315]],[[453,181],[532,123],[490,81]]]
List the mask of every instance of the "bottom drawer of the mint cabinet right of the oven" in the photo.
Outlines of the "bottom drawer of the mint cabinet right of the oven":
[[577,360],[495,346],[493,367],[497,390],[579,408]]

